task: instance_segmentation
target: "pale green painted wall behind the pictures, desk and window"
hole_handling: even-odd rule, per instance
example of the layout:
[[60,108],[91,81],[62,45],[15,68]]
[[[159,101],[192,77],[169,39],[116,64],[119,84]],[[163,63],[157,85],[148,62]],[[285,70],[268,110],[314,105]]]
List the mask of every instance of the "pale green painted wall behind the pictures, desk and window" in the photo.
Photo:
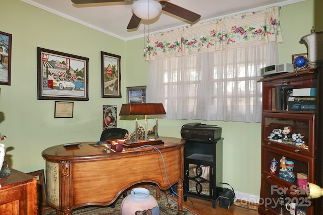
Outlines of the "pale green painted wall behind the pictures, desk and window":
[[[44,169],[41,152],[50,146],[97,141],[102,131],[102,105],[117,105],[120,110],[126,102],[126,87],[146,85],[148,62],[143,57],[143,38],[122,41],[19,0],[0,1],[0,31],[13,35],[12,84],[0,86],[0,111],[5,115],[0,133],[8,137],[2,143],[10,166],[31,172]],[[307,0],[282,7],[284,43],[279,45],[280,62],[291,62],[292,54],[306,52],[299,39],[309,33],[312,25],[316,31],[323,30],[323,24],[316,22],[322,20],[321,10],[317,10],[320,2]],[[74,101],[73,118],[55,119],[55,101],[37,100],[36,47],[89,58],[89,101]],[[100,51],[121,55],[121,99],[101,98]],[[159,135],[180,137],[181,126],[189,122],[222,127],[224,181],[237,191],[259,195],[260,124],[159,119]],[[154,120],[149,119],[148,127],[153,124]],[[132,132],[134,122],[119,120],[118,127]]]

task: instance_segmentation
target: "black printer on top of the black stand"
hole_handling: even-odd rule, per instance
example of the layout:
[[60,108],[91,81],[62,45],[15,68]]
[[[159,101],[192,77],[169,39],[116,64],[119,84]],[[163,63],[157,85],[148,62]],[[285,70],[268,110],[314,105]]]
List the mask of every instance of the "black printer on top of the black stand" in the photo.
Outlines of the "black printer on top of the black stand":
[[221,138],[222,128],[217,125],[206,125],[199,122],[188,123],[182,126],[181,136],[185,140],[217,141]]

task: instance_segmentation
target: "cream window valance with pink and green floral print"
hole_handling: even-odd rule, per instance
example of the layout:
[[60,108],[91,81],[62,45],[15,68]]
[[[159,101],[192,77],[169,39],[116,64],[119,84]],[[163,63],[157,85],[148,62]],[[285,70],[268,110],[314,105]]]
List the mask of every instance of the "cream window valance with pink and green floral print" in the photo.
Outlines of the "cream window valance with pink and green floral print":
[[283,42],[280,7],[149,35],[146,60]]

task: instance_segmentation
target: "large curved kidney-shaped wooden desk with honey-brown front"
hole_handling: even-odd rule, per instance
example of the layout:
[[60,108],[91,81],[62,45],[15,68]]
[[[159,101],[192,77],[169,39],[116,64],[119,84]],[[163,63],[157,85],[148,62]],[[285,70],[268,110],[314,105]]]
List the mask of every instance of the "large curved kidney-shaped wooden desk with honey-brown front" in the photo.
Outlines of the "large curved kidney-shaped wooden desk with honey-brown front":
[[[164,158],[170,184],[178,183],[183,197],[184,143],[179,138],[163,137],[156,145]],[[71,215],[85,205],[110,205],[129,187],[151,182],[166,190],[164,162],[153,147],[105,153],[96,142],[81,142],[78,147],[50,147],[42,152],[46,160],[47,203],[57,214]],[[178,212],[183,212],[183,198],[178,198]]]

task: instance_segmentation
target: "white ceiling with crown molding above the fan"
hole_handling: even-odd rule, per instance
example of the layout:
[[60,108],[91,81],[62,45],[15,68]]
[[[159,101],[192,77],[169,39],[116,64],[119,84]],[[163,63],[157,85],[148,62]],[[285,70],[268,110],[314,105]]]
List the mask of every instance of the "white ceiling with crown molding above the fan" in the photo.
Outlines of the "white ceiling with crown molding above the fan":
[[[142,37],[147,32],[164,32],[188,24],[185,20],[162,11],[153,20],[142,20],[139,27],[127,30],[132,16],[132,2],[75,5],[71,0],[21,0],[53,14],[73,20],[90,28],[123,40]],[[232,16],[243,12],[263,10],[306,0],[169,0],[170,3],[201,15],[197,23]],[[195,23],[194,23],[195,24]]]

